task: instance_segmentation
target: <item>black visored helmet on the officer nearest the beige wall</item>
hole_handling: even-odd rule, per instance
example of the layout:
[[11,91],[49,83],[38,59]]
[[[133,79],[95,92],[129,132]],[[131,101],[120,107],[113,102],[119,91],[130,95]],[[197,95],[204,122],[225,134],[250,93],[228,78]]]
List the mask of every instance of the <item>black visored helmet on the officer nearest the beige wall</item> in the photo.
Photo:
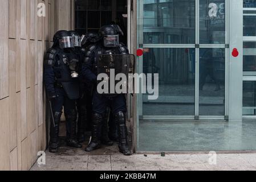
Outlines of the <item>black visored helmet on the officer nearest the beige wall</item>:
[[72,36],[70,32],[66,30],[56,32],[53,41],[53,47],[59,46],[61,49],[74,47]]

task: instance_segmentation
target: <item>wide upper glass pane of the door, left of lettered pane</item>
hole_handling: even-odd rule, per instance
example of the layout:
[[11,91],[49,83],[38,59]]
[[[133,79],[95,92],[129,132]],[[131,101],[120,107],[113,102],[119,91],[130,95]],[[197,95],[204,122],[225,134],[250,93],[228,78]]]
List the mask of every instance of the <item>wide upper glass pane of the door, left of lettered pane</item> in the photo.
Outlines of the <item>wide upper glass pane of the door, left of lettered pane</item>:
[[144,43],[194,44],[195,1],[143,1]]

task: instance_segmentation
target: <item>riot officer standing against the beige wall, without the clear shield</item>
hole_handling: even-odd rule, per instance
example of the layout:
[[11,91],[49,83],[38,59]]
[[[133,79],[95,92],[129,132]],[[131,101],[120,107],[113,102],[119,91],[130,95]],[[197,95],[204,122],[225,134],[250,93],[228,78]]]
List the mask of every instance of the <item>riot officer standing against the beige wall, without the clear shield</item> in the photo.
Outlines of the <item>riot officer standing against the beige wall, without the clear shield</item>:
[[44,57],[44,82],[51,106],[50,152],[58,151],[59,123],[64,106],[67,146],[81,148],[76,139],[76,99],[79,98],[79,57],[72,53],[74,41],[68,31],[54,35],[54,45]]

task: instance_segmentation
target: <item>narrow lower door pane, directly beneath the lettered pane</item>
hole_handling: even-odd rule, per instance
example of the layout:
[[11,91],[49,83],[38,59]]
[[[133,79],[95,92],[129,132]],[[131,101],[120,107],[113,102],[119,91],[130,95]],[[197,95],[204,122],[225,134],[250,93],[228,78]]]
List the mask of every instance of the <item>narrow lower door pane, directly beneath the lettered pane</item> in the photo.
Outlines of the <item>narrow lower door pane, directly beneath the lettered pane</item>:
[[200,49],[199,114],[225,115],[225,49]]

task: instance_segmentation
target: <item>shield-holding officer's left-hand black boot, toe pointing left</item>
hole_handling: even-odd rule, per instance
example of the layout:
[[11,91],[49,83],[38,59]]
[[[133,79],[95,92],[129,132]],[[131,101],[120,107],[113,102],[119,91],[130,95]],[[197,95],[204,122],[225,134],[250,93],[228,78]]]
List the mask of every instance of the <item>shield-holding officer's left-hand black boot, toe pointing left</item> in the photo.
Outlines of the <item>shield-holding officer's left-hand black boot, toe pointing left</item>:
[[103,116],[101,114],[94,113],[92,116],[92,138],[86,147],[87,152],[91,152],[100,148],[100,133],[101,133],[101,123],[103,121]]

